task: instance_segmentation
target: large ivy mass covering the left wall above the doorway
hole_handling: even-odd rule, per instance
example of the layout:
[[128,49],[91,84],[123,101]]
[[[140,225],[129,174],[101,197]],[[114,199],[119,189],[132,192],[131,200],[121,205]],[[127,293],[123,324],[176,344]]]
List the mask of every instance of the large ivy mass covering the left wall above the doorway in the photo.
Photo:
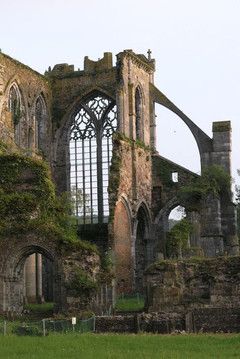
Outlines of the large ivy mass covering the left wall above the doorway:
[[45,162],[19,154],[2,154],[0,167],[1,238],[33,231],[58,241],[62,250],[97,252],[96,246],[77,237],[69,194],[55,195],[51,171]]

